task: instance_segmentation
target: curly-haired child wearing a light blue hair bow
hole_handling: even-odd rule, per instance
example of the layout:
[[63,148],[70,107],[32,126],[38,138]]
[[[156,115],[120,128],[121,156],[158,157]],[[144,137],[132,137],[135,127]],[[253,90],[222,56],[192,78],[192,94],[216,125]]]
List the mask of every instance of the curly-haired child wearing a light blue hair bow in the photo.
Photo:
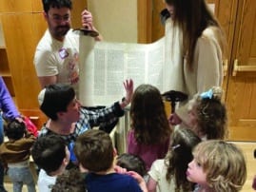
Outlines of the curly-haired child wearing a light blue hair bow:
[[[176,111],[181,126],[185,125],[192,129],[203,140],[225,139],[226,128],[226,106],[221,102],[222,88],[213,86],[201,95],[195,95],[185,107]],[[173,120],[173,119],[172,119]],[[177,122],[176,122],[177,123]],[[172,124],[176,125],[174,122]]]

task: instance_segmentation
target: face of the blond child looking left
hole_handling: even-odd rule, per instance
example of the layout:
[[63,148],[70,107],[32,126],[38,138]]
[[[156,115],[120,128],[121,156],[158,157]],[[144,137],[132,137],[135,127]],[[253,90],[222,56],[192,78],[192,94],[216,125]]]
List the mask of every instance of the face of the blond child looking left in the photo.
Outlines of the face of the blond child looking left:
[[195,158],[188,163],[186,174],[189,182],[196,182],[201,185],[207,184],[207,174],[204,172],[202,164],[198,163]]

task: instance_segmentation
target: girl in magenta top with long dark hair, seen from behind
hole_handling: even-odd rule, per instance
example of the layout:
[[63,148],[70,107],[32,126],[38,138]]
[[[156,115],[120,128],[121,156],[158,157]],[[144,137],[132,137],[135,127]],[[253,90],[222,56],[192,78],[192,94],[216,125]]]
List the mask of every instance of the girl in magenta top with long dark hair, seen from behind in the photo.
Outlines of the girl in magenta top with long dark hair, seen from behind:
[[131,99],[128,153],[143,159],[149,170],[156,159],[167,154],[171,129],[164,102],[155,86],[138,86]]

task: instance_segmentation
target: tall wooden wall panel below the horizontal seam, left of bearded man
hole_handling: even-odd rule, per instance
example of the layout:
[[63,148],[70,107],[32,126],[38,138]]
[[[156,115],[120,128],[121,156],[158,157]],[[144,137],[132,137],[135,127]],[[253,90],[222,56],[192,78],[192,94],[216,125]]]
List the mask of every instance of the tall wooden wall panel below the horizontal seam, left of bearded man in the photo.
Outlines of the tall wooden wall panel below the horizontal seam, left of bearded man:
[[28,13],[2,15],[10,73],[20,108],[38,108],[39,83],[32,62],[35,49],[32,21],[33,15]]

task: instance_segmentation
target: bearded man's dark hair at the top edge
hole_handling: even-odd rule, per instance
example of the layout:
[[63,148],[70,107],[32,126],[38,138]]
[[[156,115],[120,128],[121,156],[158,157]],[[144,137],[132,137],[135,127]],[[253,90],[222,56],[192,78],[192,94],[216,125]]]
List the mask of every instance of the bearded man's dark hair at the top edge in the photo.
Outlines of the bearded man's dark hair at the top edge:
[[42,0],[45,12],[48,12],[50,8],[69,8],[72,9],[72,0]]

